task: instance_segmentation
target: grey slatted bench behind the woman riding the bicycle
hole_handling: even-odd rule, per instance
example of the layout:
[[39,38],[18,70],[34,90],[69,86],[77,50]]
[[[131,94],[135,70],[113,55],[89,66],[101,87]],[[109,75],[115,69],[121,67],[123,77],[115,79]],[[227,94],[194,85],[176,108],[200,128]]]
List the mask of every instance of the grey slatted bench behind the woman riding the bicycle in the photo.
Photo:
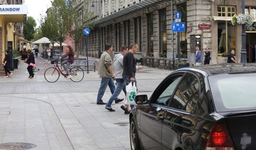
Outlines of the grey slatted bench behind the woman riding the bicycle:
[[[64,62],[65,60],[68,60],[68,58],[64,58],[60,60],[61,62]],[[87,59],[86,58],[74,58],[74,62],[70,66],[80,66],[81,68],[87,69]],[[94,72],[96,72],[96,64],[94,59],[88,59],[88,68],[93,68]]]

